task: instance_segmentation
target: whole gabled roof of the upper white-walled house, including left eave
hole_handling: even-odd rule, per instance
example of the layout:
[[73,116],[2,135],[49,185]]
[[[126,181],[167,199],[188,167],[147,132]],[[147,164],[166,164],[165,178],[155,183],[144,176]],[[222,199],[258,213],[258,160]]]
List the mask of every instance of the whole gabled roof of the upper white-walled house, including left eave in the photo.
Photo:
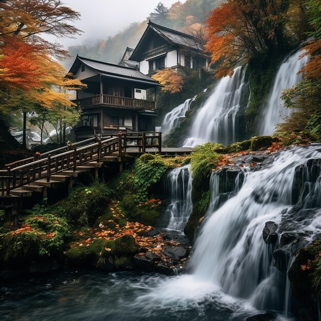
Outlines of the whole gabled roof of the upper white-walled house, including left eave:
[[142,38],[139,40],[133,54],[129,58],[131,61],[135,61],[137,59],[135,57],[138,48],[142,45],[144,42],[144,39],[149,32],[149,30],[153,30],[158,35],[163,37],[170,45],[172,46],[179,46],[179,47],[188,47],[190,49],[203,52],[203,47],[199,45],[196,41],[196,38],[190,34],[179,32],[164,26],[157,25],[151,21],[148,22],[148,26],[142,36]]

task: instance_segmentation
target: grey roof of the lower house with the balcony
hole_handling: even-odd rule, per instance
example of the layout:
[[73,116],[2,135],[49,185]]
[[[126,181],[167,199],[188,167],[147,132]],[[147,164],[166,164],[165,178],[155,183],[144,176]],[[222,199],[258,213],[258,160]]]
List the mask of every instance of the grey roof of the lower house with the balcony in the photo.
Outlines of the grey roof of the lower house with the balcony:
[[99,62],[78,55],[76,56],[76,59],[72,64],[69,72],[72,74],[76,74],[79,67],[83,64],[103,76],[121,78],[128,81],[144,82],[152,84],[154,86],[162,86],[157,81],[155,81],[155,79],[143,74],[137,69]]

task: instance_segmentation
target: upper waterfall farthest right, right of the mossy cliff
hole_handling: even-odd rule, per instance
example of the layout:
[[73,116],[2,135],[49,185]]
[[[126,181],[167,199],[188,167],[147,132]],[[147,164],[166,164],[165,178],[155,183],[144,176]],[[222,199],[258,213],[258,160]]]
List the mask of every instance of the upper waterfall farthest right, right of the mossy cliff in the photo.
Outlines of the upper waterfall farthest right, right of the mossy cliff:
[[309,57],[299,59],[303,51],[297,51],[288,55],[280,65],[274,80],[273,88],[270,92],[268,102],[264,108],[259,135],[271,135],[276,124],[282,123],[285,116],[289,116],[293,109],[286,108],[281,97],[284,89],[290,89],[301,79],[302,73],[298,72],[308,62]]

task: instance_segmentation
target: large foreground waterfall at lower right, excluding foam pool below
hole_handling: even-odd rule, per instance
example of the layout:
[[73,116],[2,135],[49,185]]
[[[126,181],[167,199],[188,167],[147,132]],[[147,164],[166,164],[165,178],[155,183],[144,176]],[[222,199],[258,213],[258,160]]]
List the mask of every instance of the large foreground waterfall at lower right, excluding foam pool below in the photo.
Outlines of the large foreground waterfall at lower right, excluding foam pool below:
[[[273,251],[264,243],[262,231],[267,221],[282,222],[284,213],[291,213],[293,203],[315,204],[320,178],[311,178],[311,173],[319,176],[320,172],[312,160],[319,157],[319,145],[295,147],[279,153],[269,166],[245,173],[243,186],[236,195],[207,214],[191,261],[194,276],[219,285],[229,295],[248,299],[258,309],[282,311],[287,307],[286,289],[280,291],[278,287],[280,272],[274,267]],[[302,166],[305,170],[300,171]],[[297,202],[293,202],[294,177],[300,174],[308,177],[314,187],[308,194],[300,193]],[[309,202],[303,202],[300,197]],[[215,198],[211,201],[215,202]],[[289,220],[296,231],[293,215]],[[302,218],[297,220],[300,232],[309,231],[307,243],[321,232],[318,213],[305,217],[304,223]]]

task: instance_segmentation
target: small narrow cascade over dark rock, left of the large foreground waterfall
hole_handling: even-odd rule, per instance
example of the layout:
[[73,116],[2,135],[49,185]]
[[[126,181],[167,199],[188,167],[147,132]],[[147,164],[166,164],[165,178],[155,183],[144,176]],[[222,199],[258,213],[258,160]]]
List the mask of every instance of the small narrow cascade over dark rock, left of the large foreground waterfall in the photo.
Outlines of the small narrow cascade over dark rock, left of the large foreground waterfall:
[[171,204],[167,209],[170,214],[167,228],[183,231],[193,210],[191,166],[186,165],[173,169],[168,179]]

